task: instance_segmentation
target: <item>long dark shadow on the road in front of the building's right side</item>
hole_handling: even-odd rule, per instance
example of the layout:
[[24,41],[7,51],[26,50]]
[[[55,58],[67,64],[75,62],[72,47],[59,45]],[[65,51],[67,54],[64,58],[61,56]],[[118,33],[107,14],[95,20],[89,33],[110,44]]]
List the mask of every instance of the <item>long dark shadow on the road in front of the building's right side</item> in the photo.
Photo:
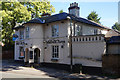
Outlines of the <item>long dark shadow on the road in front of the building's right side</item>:
[[83,75],[77,73],[69,73],[64,70],[52,69],[52,68],[35,68],[40,71],[44,71],[46,75],[54,78],[58,78],[59,80],[107,80],[108,77],[99,77],[93,75]]

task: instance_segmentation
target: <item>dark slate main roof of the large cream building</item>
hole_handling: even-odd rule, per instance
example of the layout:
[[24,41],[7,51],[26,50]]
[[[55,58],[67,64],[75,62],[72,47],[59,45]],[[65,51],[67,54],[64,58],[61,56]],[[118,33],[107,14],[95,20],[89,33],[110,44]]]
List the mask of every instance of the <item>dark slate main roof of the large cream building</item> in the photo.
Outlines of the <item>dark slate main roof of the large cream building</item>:
[[72,20],[77,21],[77,22],[86,23],[86,24],[93,25],[93,26],[96,26],[96,27],[108,29],[108,28],[106,28],[106,27],[104,27],[104,26],[102,26],[98,23],[95,23],[93,21],[87,20],[87,19],[82,18],[82,17],[76,17],[75,15],[68,14],[68,13],[65,13],[65,12],[55,14],[55,15],[52,15],[52,16],[48,16],[48,17],[35,18],[35,19],[32,19],[32,20],[30,20],[30,21],[28,21],[24,24],[27,24],[27,23],[45,24],[45,23],[51,23],[51,22],[65,20],[65,19],[67,19],[67,17],[70,17]]

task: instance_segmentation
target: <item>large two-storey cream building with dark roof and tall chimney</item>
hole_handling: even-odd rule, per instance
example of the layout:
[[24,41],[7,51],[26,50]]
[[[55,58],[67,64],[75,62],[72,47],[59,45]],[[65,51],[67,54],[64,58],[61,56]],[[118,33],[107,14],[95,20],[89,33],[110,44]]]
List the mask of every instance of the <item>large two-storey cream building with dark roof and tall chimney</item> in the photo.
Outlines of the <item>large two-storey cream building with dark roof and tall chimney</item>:
[[68,9],[69,13],[45,14],[16,27],[14,59],[26,64],[70,65],[72,33],[73,65],[102,67],[105,35],[110,29],[80,17],[76,2]]

